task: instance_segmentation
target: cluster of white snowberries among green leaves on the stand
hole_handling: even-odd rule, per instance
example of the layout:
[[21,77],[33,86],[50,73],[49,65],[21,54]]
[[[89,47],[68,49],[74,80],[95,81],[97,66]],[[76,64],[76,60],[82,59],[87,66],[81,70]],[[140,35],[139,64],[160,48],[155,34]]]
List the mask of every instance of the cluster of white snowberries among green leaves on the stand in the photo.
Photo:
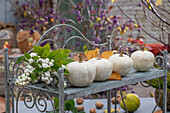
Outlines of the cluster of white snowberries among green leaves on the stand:
[[[53,78],[51,77],[51,67],[54,65],[54,60],[50,60],[49,58],[42,59],[36,53],[31,53],[30,56],[30,59],[26,59],[28,62],[26,62],[24,73],[21,76],[18,76],[15,84],[20,87],[26,86],[32,81],[31,75],[36,76],[36,80],[33,80],[32,83],[37,83],[39,80],[42,80],[46,84],[50,84],[53,81]],[[37,60],[34,60],[33,57],[35,56],[38,58]],[[38,65],[33,65],[33,63],[35,62]],[[42,73],[38,75],[37,73],[33,72],[36,68],[39,68],[41,70],[43,70],[44,68],[49,68],[49,70],[46,72],[42,71]]]

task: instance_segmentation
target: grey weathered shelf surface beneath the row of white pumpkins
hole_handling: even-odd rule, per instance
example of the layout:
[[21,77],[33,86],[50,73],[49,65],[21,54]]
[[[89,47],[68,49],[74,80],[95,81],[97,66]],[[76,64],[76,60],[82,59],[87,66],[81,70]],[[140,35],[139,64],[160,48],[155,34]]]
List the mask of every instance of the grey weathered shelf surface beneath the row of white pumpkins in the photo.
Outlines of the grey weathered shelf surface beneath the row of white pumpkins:
[[[66,89],[64,89],[64,97],[66,100],[74,99],[77,97],[83,97],[89,94],[115,89],[121,86],[135,84],[138,82],[143,82],[163,76],[165,76],[165,72],[163,70],[150,69],[147,72],[136,72],[134,69],[132,69],[131,72],[126,77],[123,77],[120,81],[107,80],[104,82],[93,82],[90,86],[85,88],[68,86]],[[45,83],[29,85],[28,87],[35,90],[46,91],[49,93],[50,96],[59,96],[57,86],[49,86],[51,89],[54,89],[54,91],[46,87]]]

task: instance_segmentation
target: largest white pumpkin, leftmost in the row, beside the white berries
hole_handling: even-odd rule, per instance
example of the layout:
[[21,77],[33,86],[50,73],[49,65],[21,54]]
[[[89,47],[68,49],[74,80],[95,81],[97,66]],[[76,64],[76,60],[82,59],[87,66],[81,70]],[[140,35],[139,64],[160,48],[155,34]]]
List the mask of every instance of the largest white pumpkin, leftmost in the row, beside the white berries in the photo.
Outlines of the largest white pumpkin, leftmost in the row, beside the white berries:
[[82,61],[80,55],[78,62],[71,62],[66,65],[66,68],[70,73],[66,79],[73,86],[86,87],[94,81],[96,67],[90,62]]

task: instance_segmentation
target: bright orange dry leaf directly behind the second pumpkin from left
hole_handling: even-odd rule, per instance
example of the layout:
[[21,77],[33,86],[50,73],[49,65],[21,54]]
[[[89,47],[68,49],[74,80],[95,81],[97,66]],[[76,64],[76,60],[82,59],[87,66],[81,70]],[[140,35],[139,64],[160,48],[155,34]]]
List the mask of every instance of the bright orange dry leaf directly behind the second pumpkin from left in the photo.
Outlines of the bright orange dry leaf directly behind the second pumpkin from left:
[[88,58],[88,60],[92,59],[92,58],[96,58],[98,56],[98,52],[100,50],[98,48],[96,48],[95,50],[90,50],[90,51],[87,51],[85,53],[86,57]]

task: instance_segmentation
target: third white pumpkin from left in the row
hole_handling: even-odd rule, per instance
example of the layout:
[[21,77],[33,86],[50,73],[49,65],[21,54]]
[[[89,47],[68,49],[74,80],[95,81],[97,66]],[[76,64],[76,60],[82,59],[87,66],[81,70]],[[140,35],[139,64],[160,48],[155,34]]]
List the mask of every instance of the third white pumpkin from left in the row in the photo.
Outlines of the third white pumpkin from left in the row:
[[109,61],[113,64],[113,71],[118,72],[121,76],[126,76],[133,66],[133,60],[124,54],[112,55],[109,57]]

